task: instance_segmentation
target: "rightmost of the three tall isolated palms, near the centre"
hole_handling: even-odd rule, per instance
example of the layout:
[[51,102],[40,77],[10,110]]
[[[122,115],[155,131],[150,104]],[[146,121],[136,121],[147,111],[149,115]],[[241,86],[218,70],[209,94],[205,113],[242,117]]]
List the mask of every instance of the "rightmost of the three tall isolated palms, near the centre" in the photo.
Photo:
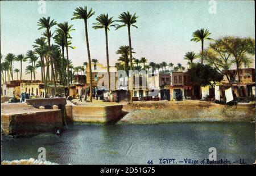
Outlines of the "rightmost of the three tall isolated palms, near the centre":
[[[122,23],[121,25],[117,25],[117,28],[116,29],[119,29],[119,28],[122,28],[122,27],[125,27],[127,26],[127,29],[128,29],[128,38],[129,38],[129,47],[130,47],[130,50],[129,50],[129,53],[130,53],[130,67],[131,67],[131,70],[133,70],[133,55],[131,54],[131,31],[130,31],[130,28],[131,27],[135,27],[135,28],[138,28],[136,25],[134,25],[136,22],[137,22],[137,18],[138,16],[136,16],[136,14],[134,15],[131,15],[129,11],[126,12],[123,12],[122,14],[120,14],[118,16],[118,19],[117,22],[120,22]],[[132,78],[133,78],[133,75],[131,75]],[[133,89],[131,89],[131,93],[130,93],[130,102],[133,102]]]

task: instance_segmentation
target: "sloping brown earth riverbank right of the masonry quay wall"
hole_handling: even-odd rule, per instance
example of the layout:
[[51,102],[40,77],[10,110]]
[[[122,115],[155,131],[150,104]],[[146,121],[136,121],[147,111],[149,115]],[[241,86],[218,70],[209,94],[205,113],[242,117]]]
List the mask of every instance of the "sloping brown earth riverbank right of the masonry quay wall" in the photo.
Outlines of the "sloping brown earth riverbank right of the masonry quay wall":
[[118,124],[174,122],[255,122],[255,104],[225,106],[209,101],[133,102],[123,108],[129,113]]

